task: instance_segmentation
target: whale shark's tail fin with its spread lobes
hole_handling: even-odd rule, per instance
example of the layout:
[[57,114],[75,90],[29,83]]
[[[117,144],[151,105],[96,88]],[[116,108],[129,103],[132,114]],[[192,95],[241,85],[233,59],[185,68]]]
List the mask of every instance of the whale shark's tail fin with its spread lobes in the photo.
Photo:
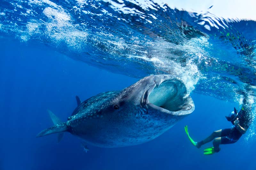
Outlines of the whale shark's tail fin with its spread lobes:
[[43,130],[36,137],[42,137],[45,135],[50,135],[52,133],[59,133],[58,134],[58,143],[59,143],[64,136],[64,133],[60,133],[60,132],[67,131],[67,125],[66,125],[66,123],[61,123],[60,119],[56,115],[54,115],[51,112],[51,110],[47,109],[47,111],[52,119],[54,126]]

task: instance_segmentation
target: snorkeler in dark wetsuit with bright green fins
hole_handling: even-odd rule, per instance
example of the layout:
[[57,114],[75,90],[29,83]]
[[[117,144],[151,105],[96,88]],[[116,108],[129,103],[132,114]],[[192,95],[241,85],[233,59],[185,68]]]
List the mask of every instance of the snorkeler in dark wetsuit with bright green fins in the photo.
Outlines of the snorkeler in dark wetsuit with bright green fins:
[[238,139],[246,132],[252,122],[252,104],[248,99],[248,95],[244,95],[242,109],[237,113],[236,108],[228,116],[227,120],[231,122],[234,126],[229,129],[220,129],[212,132],[212,134],[200,142],[195,142],[188,135],[188,126],[185,126],[185,131],[188,135],[190,142],[197,148],[202,145],[211,142],[213,140],[213,147],[204,149],[204,155],[211,155],[215,152],[219,152],[220,144],[233,144],[238,141]]

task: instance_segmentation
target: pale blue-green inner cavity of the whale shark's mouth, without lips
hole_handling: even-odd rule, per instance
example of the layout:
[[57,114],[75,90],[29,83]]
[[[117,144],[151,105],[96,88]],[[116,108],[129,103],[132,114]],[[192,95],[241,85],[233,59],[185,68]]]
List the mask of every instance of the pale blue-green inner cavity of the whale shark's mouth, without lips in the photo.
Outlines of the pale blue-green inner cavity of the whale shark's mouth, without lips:
[[167,80],[156,86],[148,96],[151,104],[164,108],[171,112],[188,110],[191,106],[187,106],[186,87],[179,80]]

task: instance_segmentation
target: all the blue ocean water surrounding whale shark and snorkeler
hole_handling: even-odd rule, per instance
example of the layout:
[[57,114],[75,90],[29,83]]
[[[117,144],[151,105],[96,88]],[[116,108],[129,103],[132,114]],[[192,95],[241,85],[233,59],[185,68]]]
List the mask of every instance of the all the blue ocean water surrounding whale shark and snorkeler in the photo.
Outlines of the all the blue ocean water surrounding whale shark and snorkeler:
[[[255,26],[147,1],[2,1],[0,5],[0,169],[255,169],[255,123],[235,144],[204,156],[190,144],[229,128],[239,90],[255,96]],[[98,148],[68,133],[36,138],[100,92],[150,74],[180,77],[195,111],[156,139]],[[255,108],[253,108],[255,110]],[[204,145],[212,146],[211,143]]]

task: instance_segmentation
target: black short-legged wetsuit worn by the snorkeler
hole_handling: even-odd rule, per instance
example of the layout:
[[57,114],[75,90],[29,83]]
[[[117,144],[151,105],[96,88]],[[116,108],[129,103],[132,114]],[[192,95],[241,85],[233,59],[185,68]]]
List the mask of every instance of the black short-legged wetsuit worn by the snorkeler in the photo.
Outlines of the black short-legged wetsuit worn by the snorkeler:
[[[247,108],[247,109],[245,109]],[[240,126],[245,129],[248,129],[251,122],[252,122],[252,115],[251,115],[251,107],[242,107],[239,111],[238,120]],[[234,124],[234,121],[232,122]],[[236,127],[232,127],[229,129],[222,129],[221,130],[221,144],[233,144],[242,136],[243,134],[239,132]]]

